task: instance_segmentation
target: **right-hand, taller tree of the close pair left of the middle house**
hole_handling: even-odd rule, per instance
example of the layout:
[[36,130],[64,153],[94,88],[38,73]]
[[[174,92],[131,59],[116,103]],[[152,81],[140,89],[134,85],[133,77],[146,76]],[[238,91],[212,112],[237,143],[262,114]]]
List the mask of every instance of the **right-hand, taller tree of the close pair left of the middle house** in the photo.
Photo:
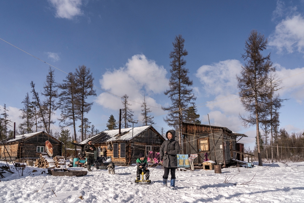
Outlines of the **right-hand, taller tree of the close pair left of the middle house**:
[[93,89],[93,75],[91,69],[85,65],[76,68],[74,76],[76,77],[76,94],[78,98],[78,111],[81,119],[81,140],[84,140],[84,114],[91,110],[93,102],[87,102],[88,96],[96,96],[96,91]]

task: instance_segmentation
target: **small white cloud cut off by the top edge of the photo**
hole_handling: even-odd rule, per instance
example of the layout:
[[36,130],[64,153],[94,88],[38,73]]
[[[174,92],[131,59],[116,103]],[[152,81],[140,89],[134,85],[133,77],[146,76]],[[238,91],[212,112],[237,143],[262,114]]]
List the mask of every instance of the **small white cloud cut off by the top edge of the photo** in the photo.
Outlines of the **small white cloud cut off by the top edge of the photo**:
[[82,15],[81,0],[49,0],[56,9],[57,18],[73,19],[74,16]]

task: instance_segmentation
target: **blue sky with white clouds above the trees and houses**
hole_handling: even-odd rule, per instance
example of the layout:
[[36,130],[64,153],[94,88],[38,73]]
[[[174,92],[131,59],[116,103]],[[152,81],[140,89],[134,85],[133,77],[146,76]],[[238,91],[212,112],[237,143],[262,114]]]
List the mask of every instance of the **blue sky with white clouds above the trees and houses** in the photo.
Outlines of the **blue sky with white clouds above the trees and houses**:
[[[289,99],[280,109],[281,127],[288,132],[303,131],[304,85],[298,85],[303,83],[300,73],[304,72],[303,5],[302,1],[3,1],[0,38],[65,72],[86,65],[93,72],[95,86],[117,95],[128,94],[137,102],[146,95],[149,105],[161,107],[170,103],[163,94],[170,77],[169,53],[174,37],[181,34],[196,104],[205,103],[198,105],[202,123],[207,123],[209,114],[213,125],[254,137],[254,128],[244,128],[238,119],[246,112],[237,96],[208,106],[206,102],[238,92],[235,75],[244,64],[244,42],[256,29],[268,38],[264,54],[271,52],[285,87],[279,93]],[[17,125],[30,82],[42,90],[48,68],[0,41],[0,107],[4,103],[9,107]],[[57,82],[65,76],[55,70]],[[97,97],[89,98],[94,104],[86,117],[102,131],[110,114],[118,120],[121,101],[100,89],[96,93]],[[141,120],[140,105],[132,103],[132,109]],[[168,129],[159,115],[164,112],[151,110],[157,130]],[[253,143],[254,138],[244,139],[246,148]]]

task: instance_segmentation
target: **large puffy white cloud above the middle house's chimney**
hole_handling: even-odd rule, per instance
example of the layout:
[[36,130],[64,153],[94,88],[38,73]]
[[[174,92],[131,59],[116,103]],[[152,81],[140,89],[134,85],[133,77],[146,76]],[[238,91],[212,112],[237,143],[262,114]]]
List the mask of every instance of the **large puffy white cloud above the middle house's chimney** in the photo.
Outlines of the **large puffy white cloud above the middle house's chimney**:
[[[129,100],[142,103],[144,94],[146,95],[147,104],[154,107],[161,107],[151,95],[163,93],[168,88],[167,71],[163,66],[159,66],[153,60],[148,60],[145,55],[134,55],[128,60],[124,67],[108,71],[102,75],[100,84],[103,89],[123,96],[127,94]],[[109,93],[101,93],[96,100],[97,103],[105,108],[118,110],[122,107],[121,99]],[[130,102],[131,109],[135,115],[140,112],[140,104]],[[151,108],[153,113],[161,112],[160,109]]]

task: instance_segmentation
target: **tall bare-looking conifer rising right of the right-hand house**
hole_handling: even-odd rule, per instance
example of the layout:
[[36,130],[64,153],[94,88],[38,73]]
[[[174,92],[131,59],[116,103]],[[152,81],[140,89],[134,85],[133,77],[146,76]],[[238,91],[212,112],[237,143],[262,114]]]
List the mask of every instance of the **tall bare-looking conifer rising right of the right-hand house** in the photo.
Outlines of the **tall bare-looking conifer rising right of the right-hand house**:
[[268,82],[268,74],[274,72],[270,54],[263,56],[262,51],[267,47],[268,41],[264,35],[252,30],[248,39],[245,41],[245,54],[242,57],[245,65],[242,66],[240,76],[237,76],[239,96],[241,103],[246,111],[250,113],[248,117],[240,116],[244,126],[256,126],[257,135],[257,151],[259,166],[263,166],[261,149],[259,122],[261,117],[267,114],[267,93],[269,91],[266,83]]

